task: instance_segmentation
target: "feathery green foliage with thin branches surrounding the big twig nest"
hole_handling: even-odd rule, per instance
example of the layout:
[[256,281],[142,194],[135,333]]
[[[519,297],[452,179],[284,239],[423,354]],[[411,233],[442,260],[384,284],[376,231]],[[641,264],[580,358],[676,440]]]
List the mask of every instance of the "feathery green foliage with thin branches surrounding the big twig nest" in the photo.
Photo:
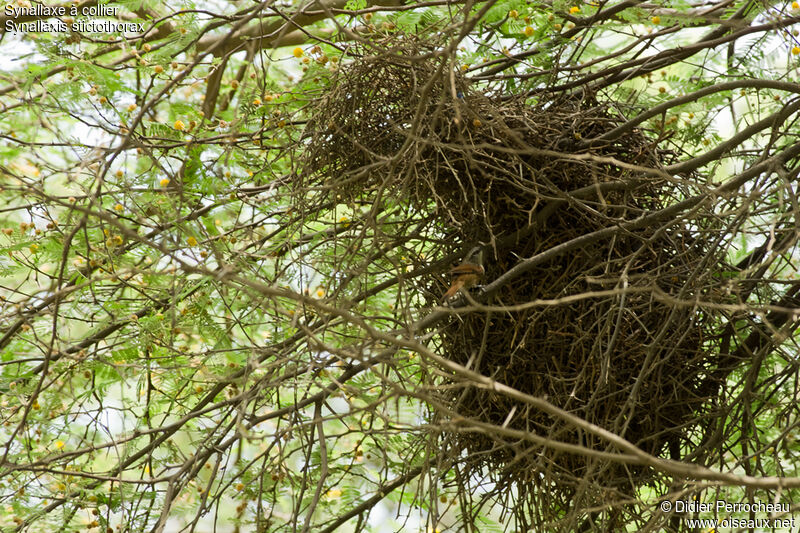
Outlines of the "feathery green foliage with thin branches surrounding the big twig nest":
[[[621,122],[665,105],[663,113],[631,127],[670,154],[660,179],[704,180],[708,190],[789,153],[797,134],[794,122],[783,122],[702,167],[668,168],[793,102],[785,86],[755,83],[794,79],[797,59],[786,52],[791,33],[762,28],[728,40],[764,17],[791,32],[787,17],[773,7],[754,5],[746,18],[723,25],[740,3],[719,5],[703,17],[685,0],[637,5],[613,16],[606,16],[606,4],[568,1],[503,1],[488,10],[477,3],[468,12],[456,4],[404,4],[357,18],[353,11],[375,6],[348,0],[343,11],[311,13],[299,4],[258,13],[256,4],[210,9],[186,2],[178,9],[123,0],[114,6],[125,20],[146,20],[154,29],[143,38],[115,33],[80,42],[68,34],[6,32],[0,41],[0,56],[13,58],[0,64],[3,531],[18,528],[18,520],[27,521],[26,531],[149,531],[162,509],[179,527],[216,514],[218,523],[257,531],[302,529],[309,516],[310,529],[321,530],[376,495],[380,503],[345,521],[342,530],[356,523],[373,531],[520,527],[513,513],[502,512],[503,502],[519,494],[478,503],[491,487],[471,490],[472,480],[456,473],[464,456],[440,454],[447,431],[433,427],[439,419],[428,413],[441,401],[442,375],[453,372],[443,374],[430,357],[437,353],[438,330],[411,329],[443,292],[449,266],[426,254],[451,239],[460,222],[447,218],[437,198],[412,205],[416,191],[394,192],[391,173],[381,173],[408,156],[399,149],[374,153],[358,170],[385,181],[357,194],[349,190],[357,174],[352,169],[342,169],[329,185],[315,182],[303,167],[313,128],[347,139],[343,124],[379,113],[361,110],[332,124],[315,122],[316,106],[342,97],[336,87],[363,57],[398,57],[393,45],[415,37],[430,44],[418,61],[443,58],[441,86],[449,87],[452,78],[468,97],[546,103],[557,95],[592,95],[613,102],[613,120]],[[573,6],[578,12],[570,13]],[[573,20],[576,27],[568,28]],[[466,22],[474,25],[460,35]],[[729,31],[718,41],[698,40],[723,26]],[[298,44],[301,58],[293,55]],[[687,56],[690,47],[696,52]],[[221,87],[213,88],[217,68],[225,72]],[[752,87],[697,96],[747,80]],[[398,83],[425,87],[429,81]],[[428,98],[446,103],[446,93]],[[213,106],[206,100],[211,94],[217,94]],[[355,96],[368,94],[347,97]],[[460,108],[465,138],[474,133],[470,113],[479,110],[470,101]],[[136,107],[127,109],[133,102]],[[212,107],[205,116],[202,110]],[[482,118],[480,127],[492,131],[509,126]],[[449,149],[443,139],[456,131],[455,117],[436,120],[440,137],[430,152],[415,154],[420,161]],[[377,132],[397,127],[380,117],[375,123]],[[551,155],[569,161],[575,147]],[[707,276],[706,292],[681,294],[676,307],[698,314],[704,306],[722,307],[734,345],[750,334],[770,339],[761,351],[740,354],[737,361],[752,366],[727,377],[721,398],[739,403],[717,421],[721,451],[706,465],[737,475],[746,466],[765,479],[793,475],[800,438],[796,330],[764,322],[769,313],[796,307],[782,299],[797,276],[797,161],[773,162],[744,186],[710,194],[702,204],[729,228],[723,255],[730,265]],[[451,170],[443,164],[442,173]],[[329,187],[332,199],[322,202]],[[578,201],[568,193],[552,196]],[[675,196],[674,202],[686,200]],[[582,204],[585,216],[608,216],[606,202]],[[532,221],[540,209],[532,209]],[[609,219],[610,226],[617,222]],[[498,228],[494,238],[509,233]],[[755,266],[736,266],[762,245],[767,251]],[[635,269],[632,264],[632,277]],[[706,279],[704,272],[692,275]],[[601,290],[587,291],[595,289]],[[654,299],[665,290],[651,289]],[[460,430],[487,431],[461,422]],[[683,456],[703,438],[698,433],[681,442]],[[420,473],[386,489],[414,469]],[[674,478],[663,482],[664,491],[672,482],[695,490],[695,481],[655,471]],[[742,496],[734,483],[714,483],[721,496]],[[753,493],[796,496],[794,489],[783,490]],[[638,502],[621,498],[607,505],[636,507],[658,521],[663,517],[653,514],[654,502],[664,491],[642,488]],[[375,506],[405,522],[375,523],[369,518]]]

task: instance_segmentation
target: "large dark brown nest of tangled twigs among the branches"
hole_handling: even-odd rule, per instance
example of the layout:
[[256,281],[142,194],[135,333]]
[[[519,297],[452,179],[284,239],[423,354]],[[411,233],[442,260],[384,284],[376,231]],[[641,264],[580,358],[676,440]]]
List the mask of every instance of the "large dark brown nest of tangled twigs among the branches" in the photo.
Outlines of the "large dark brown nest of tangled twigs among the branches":
[[[673,156],[643,131],[597,142],[625,122],[611,103],[585,92],[479,92],[425,52],[407,40],[342,69],[314,109],[303,185],[327,199],[403,199],[431,213],[439,238],[429,257],[484,243],[487,283],[585,238],[497,288],[487,303],[507,309],[451,316],[435,348],[649,454],[680,459],[723,379],[717,317],[686,303],[711,298],[720,260],[707,243],[720,230],[699,216],[625,222],[686,198],[692,180],[662,172]],[[608,228],[618,231],[601,233]],[[428,287],[429,304],[443,281]],[[552,524],[576,495],[588,507],[653,479],[612,459],[618,450],[585,428],[445,375],[424,385],[439,391],[432,426],[456,482],[490,480],[484,495],[516,499],[519,523]]]

